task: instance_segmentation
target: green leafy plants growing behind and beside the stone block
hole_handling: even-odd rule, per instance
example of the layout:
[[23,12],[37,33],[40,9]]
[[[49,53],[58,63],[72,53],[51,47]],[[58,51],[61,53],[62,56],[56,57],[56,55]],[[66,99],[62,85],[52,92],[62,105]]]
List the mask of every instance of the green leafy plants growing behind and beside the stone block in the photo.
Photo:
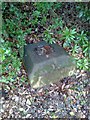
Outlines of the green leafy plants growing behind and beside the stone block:
[[[89,31],[84,27],[78,30],[77,25],[66,23],[68,18],[65,21],[63,14],[59,13],[65,4],[52,2],[2,3],[0,47],[2,82],[12,82],[17,79],[22,66],[22,48],[26,44],[25,37],[33,34],[33,32],[36,38],[40,34],[43,40],[50,44],[61,42],[64,49],[74,56],[77,68],[90,71]],[[70,5],[72,4],[69,3],[68,6],[70,7]],[[88,4],[78,3],[75,5],[75,10],[79,21],[89,24],[90,10]],[[70,11],[66,12],[70,14]],[[19,52],[20,50],[21,52]]]

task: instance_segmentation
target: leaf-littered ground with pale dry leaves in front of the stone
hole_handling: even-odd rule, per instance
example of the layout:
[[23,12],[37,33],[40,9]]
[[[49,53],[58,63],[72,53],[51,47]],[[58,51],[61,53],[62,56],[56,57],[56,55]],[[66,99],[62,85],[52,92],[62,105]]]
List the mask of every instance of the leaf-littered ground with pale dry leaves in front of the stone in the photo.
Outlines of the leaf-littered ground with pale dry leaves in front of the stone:
[[0,98],[1,118],[90,118],[88,73],[77,71],[74,76],[55,84],[33,89],[19,83],[3,84]]

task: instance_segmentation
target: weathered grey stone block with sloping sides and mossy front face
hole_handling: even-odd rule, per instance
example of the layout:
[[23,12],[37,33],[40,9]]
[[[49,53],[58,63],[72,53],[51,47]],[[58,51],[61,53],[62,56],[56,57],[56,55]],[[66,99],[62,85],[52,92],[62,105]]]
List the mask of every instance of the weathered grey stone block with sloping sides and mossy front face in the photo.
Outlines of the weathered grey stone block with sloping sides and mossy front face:
[[[44,46],[52,48],[48,55],[42,50]],[[49,45],[44,41],[25,46],[24,64],[34,88],[57,82],[75,70],[73,59],[62,47],[56,44]]]

